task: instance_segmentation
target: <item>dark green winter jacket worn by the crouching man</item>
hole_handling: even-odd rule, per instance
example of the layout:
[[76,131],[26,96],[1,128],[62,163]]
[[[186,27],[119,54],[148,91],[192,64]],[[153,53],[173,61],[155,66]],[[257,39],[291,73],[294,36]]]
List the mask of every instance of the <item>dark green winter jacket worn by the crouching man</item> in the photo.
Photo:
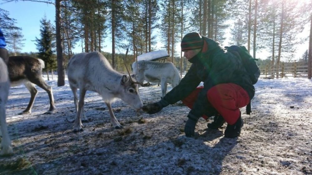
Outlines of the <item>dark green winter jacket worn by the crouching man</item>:
[[246,90],[250,100],[255,95],[255,88],[239,58],[227,52],[220,43],[204,36],[202,38],[204,39],[202,52],[189,60],[193,64],[187,74],[179,85],[163,97],[163,100],[168,104],[174,104],[185,99],[201,82],[204,82],[204,88],[198,94],[192,111],[197,117],[203,114],[211,117],[213,114],[207,114],[205,111],[211,106],[207,100],[207,91],[213,86],[222,83],[240,85]]

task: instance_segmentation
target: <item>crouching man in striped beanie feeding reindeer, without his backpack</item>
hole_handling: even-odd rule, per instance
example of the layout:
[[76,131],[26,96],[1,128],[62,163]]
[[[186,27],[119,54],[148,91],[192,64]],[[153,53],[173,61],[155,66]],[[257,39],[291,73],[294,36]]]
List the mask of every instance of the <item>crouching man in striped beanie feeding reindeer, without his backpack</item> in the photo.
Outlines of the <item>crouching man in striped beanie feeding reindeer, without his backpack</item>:
[[[227,122],[225,137],[237,137],[244,122],[239,108],[246,106],[255,95],[255,88],[239,58],[220,43],[196,32],[185,35],[181,42],[184,57],[192,63],[187,74],[163,99],[144,105],[149,114],[159,112],[169,104],[182,100],[191,108],[184,132],[194,136],[200,117],[215,116],[207,127],[218,129]],[[203,86],[197,87],[201,82]]]

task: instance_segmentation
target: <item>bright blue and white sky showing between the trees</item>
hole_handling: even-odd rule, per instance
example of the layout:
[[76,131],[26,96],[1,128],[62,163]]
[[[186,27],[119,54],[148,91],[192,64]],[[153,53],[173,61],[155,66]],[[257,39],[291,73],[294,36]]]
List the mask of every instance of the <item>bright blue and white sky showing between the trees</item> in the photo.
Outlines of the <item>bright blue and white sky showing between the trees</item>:
[[[55,22],[54,22],[55,21],[55,7],[51,4],[40,3],[40,2],[27,2],[27,1],[17,1],[17,2],[13,1],[13,2],[7,2],[7,3],[0,1],[0,7],[4,10],[7,10],[10,13],[9,15],[10,17],[16,19],[17,27],[22,28],[22,34],[24,35],[24,39],[26,39],[24,41],[25,47],[22,48],[22,52],[31,52],[31,51],[37,52],[34,40],[36,39],[36,37],[37,38],[40,37],[40,33],[39,33],[40,20],[44,16],[46,16],[46,18],[50,20],[53,25],[55,25]],[[309,36],[308,35],[309,30],[310,30],[310,26],[307,25],[305,27],[304,32],[302,32],[299,35]],[[226,34],[227,38],[230,38],[230,35],[231,35],[229,31],[230,30],[228,30]],[[157,37],[159,39],[159,36]],[[80,43],[81,42],[77,43],[76,48],[73,49],[73,52],[75,53],[81,52]],[[229,40],[225,40],[225,42],[221,44],[222,46],[226,46],[228,45],[228,43],[229,43]],[[112,52],[110,36],[108,36],[105,39],[105,42],[102,45],[104,46],[102,51],[109,52],[109,53]],[[156,49],[163,50],[162,47],[163,47],[163,44],[158,42],[158,44],[156,45]],[[177,43],[175,47],[179,53],[181,51],[180,43]],[[308,41],[306,41],[304,44],[297,46],[297,53],[295,54],[296,56],[294,59],[300,58],[305,52],[305,50],[307,49],[308,49]],[[121,52],[125,52],[125,50],[123,49],[116,50],[116,52],[121,53]],[[262,49],[262,50],[257,51],[256,55],[258,58],[266,59],[268,56],[270,56],[270,53],[267,50]]]

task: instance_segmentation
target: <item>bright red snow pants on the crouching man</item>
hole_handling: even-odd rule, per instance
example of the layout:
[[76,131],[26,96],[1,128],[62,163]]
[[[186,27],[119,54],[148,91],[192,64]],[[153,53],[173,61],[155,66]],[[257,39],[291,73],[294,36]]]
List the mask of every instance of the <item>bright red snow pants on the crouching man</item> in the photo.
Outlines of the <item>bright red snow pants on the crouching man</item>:
[[[197,87],[188,97],[182,100],[183,104],[193,108],[197,95],[203,86]],[[219,84],[207,91],[209,103],[218,111],[224,120],[233,125],[240,116],[239,108],[249,103],[249,96],[241,86],[234,83]],[[202,116],[204,119],[208,117]]]

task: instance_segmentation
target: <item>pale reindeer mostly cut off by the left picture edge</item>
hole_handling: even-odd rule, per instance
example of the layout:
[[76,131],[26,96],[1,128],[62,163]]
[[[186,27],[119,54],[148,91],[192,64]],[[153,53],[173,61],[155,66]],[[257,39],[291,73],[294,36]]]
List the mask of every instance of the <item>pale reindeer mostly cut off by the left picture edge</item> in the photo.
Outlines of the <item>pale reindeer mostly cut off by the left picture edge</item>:
[[11,140],[7,133],[7,122],[5,120],[5,104],[7,102],[7,95],[9,94],[10,81],[7,73],[7,65],[0,58],[0,127],[2,134],[1,152],[0,155],[12,154]]

